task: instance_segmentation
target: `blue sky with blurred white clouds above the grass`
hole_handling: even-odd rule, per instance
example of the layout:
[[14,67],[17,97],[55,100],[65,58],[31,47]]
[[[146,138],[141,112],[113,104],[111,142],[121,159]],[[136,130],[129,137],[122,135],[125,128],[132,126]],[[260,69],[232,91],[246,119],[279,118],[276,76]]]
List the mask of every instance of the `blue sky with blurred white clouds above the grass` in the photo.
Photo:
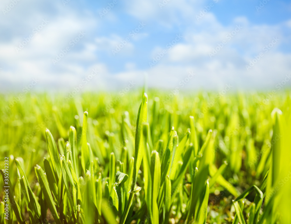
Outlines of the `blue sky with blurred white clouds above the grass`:
[[0,10],[1,92],[119,91],[145,76],[193,90],[290,79],[288,0],[1,0]]

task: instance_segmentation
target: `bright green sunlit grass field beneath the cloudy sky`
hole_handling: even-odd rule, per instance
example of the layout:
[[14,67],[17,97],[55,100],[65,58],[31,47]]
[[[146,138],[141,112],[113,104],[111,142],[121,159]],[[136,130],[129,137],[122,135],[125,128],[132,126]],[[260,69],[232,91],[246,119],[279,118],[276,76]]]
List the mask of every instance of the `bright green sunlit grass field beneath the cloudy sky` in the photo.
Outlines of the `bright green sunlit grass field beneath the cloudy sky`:
[[291,223],[288,91],[0,95],[0,223]]

